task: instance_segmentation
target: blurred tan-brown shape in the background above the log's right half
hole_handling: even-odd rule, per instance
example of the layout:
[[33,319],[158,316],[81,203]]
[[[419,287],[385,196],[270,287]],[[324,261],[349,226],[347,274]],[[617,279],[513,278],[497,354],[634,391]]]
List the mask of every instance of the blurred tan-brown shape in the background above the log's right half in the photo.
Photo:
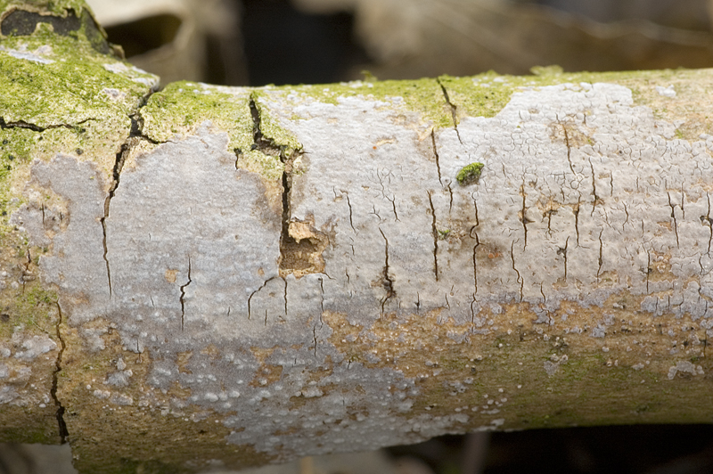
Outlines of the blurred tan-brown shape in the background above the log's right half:
[[[691,4],[693,2],[686,2]],[[472,75],[488,69],[526,74],[537,65],[568,71],[702,68],[713,65],[713,36],[646,20],[661,2],[573,2],[572,12],[597,13],[610,4],[611,23],[544,4],[505,0],[295,0],[310,12],[350,9],[358,40],[379,78]],[[553,2],[566,6],[562,0]],[[598,4],[599,8],[594,7]],[[672,2],[668,2],[672,4]],[[681,12],[681,24],[701,20],[705,3]],[[585,7],[584,5],[589,5]],[[619,6],[618,6],[619,5]],[[685,21],[683,17],[691,17]],[[658,17],[657,17],[658,18]],[[667,19],[668,17],[664,17]],[[705,17],[704,17],[705,18]]]

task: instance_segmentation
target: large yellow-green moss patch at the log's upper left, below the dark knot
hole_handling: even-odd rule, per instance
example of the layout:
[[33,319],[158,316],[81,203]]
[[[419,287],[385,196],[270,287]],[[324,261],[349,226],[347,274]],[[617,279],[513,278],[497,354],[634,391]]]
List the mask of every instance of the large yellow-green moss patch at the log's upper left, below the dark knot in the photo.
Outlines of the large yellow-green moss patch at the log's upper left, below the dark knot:
[[[128,114],[156,79],[96,53],[90,45],[40,28],[33,37],[7,38],[0,51],[0,110],[5,123],[24,121],[37,127],[86,128],[87,122]],[[41,50],[52,45],[51,50]],[[12,56],[27,51],[53,61],[41,63]],[[45,52],[43,52],[45,51]],[[118,67],[111,72],[104,64]],[[115,89],[117,98],[105,91]],[[123,93],[123,94],[122,94]],[[28,97],[32,100],[29,101]]]

